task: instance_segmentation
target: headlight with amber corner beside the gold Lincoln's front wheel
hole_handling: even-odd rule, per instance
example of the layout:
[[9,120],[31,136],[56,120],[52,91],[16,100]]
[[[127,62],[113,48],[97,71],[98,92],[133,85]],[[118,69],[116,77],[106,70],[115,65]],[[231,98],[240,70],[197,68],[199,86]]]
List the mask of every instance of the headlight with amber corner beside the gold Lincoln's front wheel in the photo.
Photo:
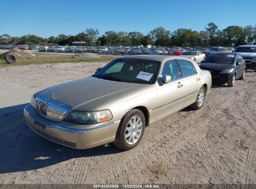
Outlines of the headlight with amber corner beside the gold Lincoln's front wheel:
[[82,124],[93,124],[108,121],[112,118],[111,111],[109,109],[104,109],[101,111],[72,111],[65,120]]

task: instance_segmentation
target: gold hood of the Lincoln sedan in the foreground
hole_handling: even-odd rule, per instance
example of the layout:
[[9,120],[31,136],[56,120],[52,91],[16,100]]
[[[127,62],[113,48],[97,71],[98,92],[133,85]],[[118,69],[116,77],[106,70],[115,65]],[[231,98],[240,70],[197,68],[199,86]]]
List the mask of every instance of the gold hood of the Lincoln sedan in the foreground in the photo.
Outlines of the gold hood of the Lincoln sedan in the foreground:
[[146,84],[102,80],[93,76],[67,81],[39,91],[44,98],[69,104],[73,109],[92,111],[115,98],[145,88]]

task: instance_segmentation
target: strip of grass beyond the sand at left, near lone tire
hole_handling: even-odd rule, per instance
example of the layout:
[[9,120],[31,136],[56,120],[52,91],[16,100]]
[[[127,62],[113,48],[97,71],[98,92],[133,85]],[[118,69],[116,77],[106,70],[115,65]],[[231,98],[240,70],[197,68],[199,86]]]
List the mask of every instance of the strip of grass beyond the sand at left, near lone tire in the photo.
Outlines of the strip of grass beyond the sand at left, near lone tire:
[[[34,53],[36,55],[36,53]],[[6,60],[0,59],[0,67],[13,66],[13,65],[31,65],[41,63],[61,63],[61,62],[111,62],[116,56],[100,56],[100,58],[82,58],[75,57],[74,55],[65,55],[61,53],[39,53],[39,62],[37,56],[33,58],[18,58],[16,64],[9,64]]]

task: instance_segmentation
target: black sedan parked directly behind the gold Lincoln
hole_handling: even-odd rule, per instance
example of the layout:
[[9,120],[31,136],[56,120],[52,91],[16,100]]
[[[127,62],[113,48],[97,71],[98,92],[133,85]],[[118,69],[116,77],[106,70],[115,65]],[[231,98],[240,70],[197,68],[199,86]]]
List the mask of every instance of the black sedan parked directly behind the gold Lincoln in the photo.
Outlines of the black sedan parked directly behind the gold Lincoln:
[[228,86],[234,86],[236,79],[244,80],[245,77],[245,60],[239,53],[213,53],[199,67],[210,71],[212,81]]

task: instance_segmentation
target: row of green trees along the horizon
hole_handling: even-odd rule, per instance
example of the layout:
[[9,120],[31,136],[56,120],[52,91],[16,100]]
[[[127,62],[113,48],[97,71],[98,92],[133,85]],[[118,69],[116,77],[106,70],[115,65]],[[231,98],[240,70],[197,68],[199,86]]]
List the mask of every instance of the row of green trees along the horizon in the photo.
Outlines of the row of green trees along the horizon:
[[159,45],[183,47],[209,47],[209,46],[237,46],[254,44],[256,42],[256,25],[240,27],[231,25],[223,30],[213,22],[207,24],[205,30],[197,32],[192,29],[179,28],[171,32],[164,27],[156,27],[148,34],[141,32],[115,32],[107,31],[99,36],[97,29],[86,29],[77,35],[60,34],[49,38],[37,35],[23,35],[11,37],[8,34],[0,35],[0,44],[19,45],[72,45],[72,42],[85,42],[86,45]]

